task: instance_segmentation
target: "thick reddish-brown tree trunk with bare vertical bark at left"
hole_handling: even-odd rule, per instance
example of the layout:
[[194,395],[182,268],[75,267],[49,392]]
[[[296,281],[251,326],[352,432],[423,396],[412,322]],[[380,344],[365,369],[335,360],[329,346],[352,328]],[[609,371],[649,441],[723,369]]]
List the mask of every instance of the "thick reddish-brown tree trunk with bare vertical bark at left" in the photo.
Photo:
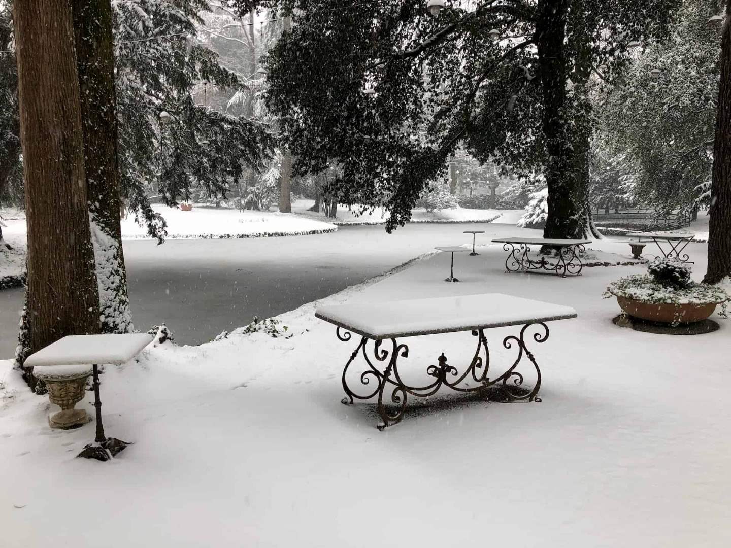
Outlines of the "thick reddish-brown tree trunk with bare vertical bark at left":
[[13,19],[28,224],[22,362],[64,335],[98,333],[99,293],[71,6],[59,0],[15,1]]

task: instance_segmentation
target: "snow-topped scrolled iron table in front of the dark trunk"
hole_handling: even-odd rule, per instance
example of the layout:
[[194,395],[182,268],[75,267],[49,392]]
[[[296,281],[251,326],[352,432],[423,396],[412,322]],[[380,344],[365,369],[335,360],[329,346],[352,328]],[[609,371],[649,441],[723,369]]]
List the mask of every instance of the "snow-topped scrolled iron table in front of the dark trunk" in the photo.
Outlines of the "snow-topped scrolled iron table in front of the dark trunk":
[[[503,249],[508,251],[505,260],[505,270],[508,272],[528,272],[534,270],[537,273],[554,273],[561,277],[567,274],[580,275],[583,267],[579,253],[584,251],[584,246],[591,243],[591,240],[558,240],[548,238],[496,238],[495,243],[502,243]],[[518,246],[518,247],[515,247]],[[556,264],[548,262],[545,256],[538,261],[532,260],[528,253],[530,246],[550,246],[556,248]]]

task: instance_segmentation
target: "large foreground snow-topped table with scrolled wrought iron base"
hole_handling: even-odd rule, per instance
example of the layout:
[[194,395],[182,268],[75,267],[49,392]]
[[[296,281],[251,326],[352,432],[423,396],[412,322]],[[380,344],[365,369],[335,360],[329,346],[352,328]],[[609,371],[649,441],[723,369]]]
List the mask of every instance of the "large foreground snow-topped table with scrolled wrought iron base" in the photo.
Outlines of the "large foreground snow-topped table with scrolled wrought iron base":
[[[366,302],[322,306],[315,312],[319,319],[337,326],[339,340],[348,342],[352,333],[360,335],[360,342],[343,369],[346,397],[342,403],[349,405],[354,400],[377,397],[376,410],[382,419],[379,430],[401,421],[407,395],[429,397],[442,387],[458,392],[476,392],[498,385],[512,399],[540,401],[541,372],[526,339],[542,343],[548,339],[546,322],[575,318],[576,315],[576,311],[568,306],[499,293],[402,300],[378,305]],[[517,356],[502,372],[491,375],[493,369],[485,330],[514,325],[523,327],[517,335],[504,337],[502,345],[505,349],[515,349]],[[402,380],[400,359],[409,357],[409,347],[398,342],[399,338],[463,331],[469,331],[477,338],[474,356],[463,370],[450,365],[442,353],[436,363],[427,366],[424,384],[412,386]],[[349,374],[359,355],[365,362],[363,368],[355,375]],[[530,390],[522,389],[523,373],[517,370],[523,358],[530,362],[536,373],[535,384]],[[378,367],[379,364],[382,367]]]

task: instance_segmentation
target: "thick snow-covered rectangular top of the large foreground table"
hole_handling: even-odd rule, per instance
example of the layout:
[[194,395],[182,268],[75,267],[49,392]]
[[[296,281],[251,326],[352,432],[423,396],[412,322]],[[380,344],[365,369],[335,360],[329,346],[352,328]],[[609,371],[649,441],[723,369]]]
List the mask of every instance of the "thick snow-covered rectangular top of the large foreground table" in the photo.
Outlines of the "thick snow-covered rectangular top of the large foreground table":
[[564,305],[501,293],[321,306],[315,316],[370,339],[414,337],[575,318]]

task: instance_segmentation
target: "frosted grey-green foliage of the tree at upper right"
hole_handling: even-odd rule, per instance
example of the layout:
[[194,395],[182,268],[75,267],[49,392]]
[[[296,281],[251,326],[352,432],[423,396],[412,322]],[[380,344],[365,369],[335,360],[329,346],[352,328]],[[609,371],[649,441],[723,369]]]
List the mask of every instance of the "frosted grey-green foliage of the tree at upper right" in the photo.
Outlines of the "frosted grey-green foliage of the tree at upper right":
[[602,139],[634,168],[635,198],[662,213],[708,205],[721,31],[706,22],[709,9],[684,1],[667,36],[643,48],[603,109]]

